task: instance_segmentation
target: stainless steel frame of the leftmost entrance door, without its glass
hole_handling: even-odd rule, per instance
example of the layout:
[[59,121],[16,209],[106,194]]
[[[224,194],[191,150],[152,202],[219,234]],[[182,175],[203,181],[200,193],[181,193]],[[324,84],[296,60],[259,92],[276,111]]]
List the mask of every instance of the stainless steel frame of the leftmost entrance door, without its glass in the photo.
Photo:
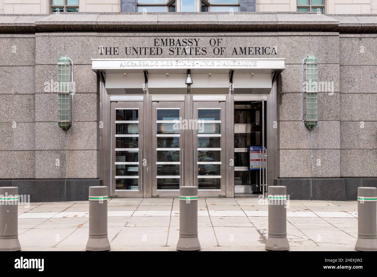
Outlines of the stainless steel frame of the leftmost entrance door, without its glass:
[[[116,151],[130,152],[135,151],[133,148],[121,148],[127,150],[115,150],[116,148],[116,138],[117,137],[127,137],[127,135],[117,135],[116,134],[116,110],[138,110],[138,150],[137,150],[137,162],[116,162]],[[124,102],[111,102],[111,139],[110,139],[110,149],[111,149],[111,196],[115,197],[143,197],[143,176],[142,176],[142,155],[144,148],[144,113],[143,113],[143,101],[124,101]],[[131,122],[119,122],[118,124],[135,124]],[[117,136],[116,136],[117,135]],[[130,135],[135,137],[136,134]],[[117,164],[116,164],[117,163]],[[138,179],[138,189],[137,190],[127,190],[127,189],[117,189],[116,188],[116,165],[138,165],[138,175],[135,176],[124,176],[122,179]],[[126,171],[126,170],[125,170]]]

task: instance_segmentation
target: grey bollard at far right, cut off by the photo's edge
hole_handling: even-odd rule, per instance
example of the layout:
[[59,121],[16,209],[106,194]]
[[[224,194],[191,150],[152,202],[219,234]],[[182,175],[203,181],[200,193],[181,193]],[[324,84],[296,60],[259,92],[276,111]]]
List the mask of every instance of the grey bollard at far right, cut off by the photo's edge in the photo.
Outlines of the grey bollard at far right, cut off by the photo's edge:
[[377,251],[377,188],[357,188],[357,241],[355,250]]

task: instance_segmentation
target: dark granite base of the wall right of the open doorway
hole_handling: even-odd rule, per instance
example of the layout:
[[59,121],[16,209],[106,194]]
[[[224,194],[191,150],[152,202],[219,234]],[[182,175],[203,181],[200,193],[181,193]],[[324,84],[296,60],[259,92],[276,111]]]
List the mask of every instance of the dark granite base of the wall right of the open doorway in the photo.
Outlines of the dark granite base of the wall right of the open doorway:
[[357,199],[358,187],[377,187],[377,177],[282,178],[275,185],[286,186],[290,200],[347,201]]

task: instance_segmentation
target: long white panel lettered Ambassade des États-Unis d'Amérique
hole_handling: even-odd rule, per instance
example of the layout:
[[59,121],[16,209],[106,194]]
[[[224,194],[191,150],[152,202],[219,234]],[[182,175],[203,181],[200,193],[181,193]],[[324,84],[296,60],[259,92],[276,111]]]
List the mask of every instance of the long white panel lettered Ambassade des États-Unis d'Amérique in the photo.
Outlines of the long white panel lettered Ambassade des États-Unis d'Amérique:
[[285,69],[285,59],[92,59],[92,69]]

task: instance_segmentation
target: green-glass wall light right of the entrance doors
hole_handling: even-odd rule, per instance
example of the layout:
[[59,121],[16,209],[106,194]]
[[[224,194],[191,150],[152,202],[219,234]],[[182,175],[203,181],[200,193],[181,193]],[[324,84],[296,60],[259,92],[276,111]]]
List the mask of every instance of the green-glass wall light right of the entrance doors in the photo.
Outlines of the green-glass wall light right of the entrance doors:
[[302,61],[303,121],[309,130],[318,123],[318,59],[308,55]]

